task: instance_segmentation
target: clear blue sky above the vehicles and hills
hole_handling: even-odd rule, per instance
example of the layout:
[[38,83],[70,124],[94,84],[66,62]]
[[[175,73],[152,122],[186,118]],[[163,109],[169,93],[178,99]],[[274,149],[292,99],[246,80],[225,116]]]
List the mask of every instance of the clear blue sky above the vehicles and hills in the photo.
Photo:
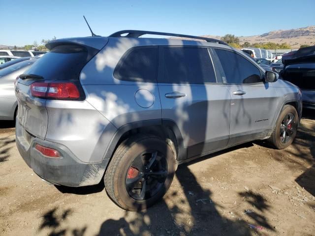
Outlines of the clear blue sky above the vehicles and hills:
[[315,0],[0,0],[0,44],[122,29],[237,36],[315,25]]

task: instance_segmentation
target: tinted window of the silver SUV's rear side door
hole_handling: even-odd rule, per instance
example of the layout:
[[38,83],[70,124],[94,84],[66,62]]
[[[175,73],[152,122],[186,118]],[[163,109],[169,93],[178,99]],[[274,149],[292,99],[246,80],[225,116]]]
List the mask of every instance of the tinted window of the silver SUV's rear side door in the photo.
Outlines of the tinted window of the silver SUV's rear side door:
[[206,48],[164,48],[163,76],[160,83],[216,83]]

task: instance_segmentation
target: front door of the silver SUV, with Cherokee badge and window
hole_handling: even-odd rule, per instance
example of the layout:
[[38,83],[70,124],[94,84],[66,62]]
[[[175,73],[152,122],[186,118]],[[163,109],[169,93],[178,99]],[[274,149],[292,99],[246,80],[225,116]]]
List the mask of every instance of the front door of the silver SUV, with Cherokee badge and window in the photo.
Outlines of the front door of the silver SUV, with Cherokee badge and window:
[[277,108],[276,90],[263,83],[263,72],[252,61],[227,49],[213,49],[223,82],[231,94],[228,145],[263,138],[272,129]]

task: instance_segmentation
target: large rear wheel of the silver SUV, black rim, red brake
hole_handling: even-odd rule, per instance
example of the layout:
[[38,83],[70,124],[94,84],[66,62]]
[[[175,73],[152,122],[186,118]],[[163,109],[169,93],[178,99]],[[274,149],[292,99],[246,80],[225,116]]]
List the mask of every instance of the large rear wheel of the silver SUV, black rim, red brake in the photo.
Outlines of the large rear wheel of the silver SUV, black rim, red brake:
[[160,138],[138,134],[119,145],[104,176],[109,197],[126,210],[154,205],[170,187],[174,150]]

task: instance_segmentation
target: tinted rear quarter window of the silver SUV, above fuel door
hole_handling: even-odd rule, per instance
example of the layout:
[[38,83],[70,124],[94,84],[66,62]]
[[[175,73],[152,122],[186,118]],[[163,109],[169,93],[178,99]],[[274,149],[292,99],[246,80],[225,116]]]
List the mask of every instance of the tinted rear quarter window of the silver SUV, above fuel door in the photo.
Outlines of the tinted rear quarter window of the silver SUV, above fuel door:
[[118,62],[114,77],[119,80],[157,82],[158,47],[134,48]]

